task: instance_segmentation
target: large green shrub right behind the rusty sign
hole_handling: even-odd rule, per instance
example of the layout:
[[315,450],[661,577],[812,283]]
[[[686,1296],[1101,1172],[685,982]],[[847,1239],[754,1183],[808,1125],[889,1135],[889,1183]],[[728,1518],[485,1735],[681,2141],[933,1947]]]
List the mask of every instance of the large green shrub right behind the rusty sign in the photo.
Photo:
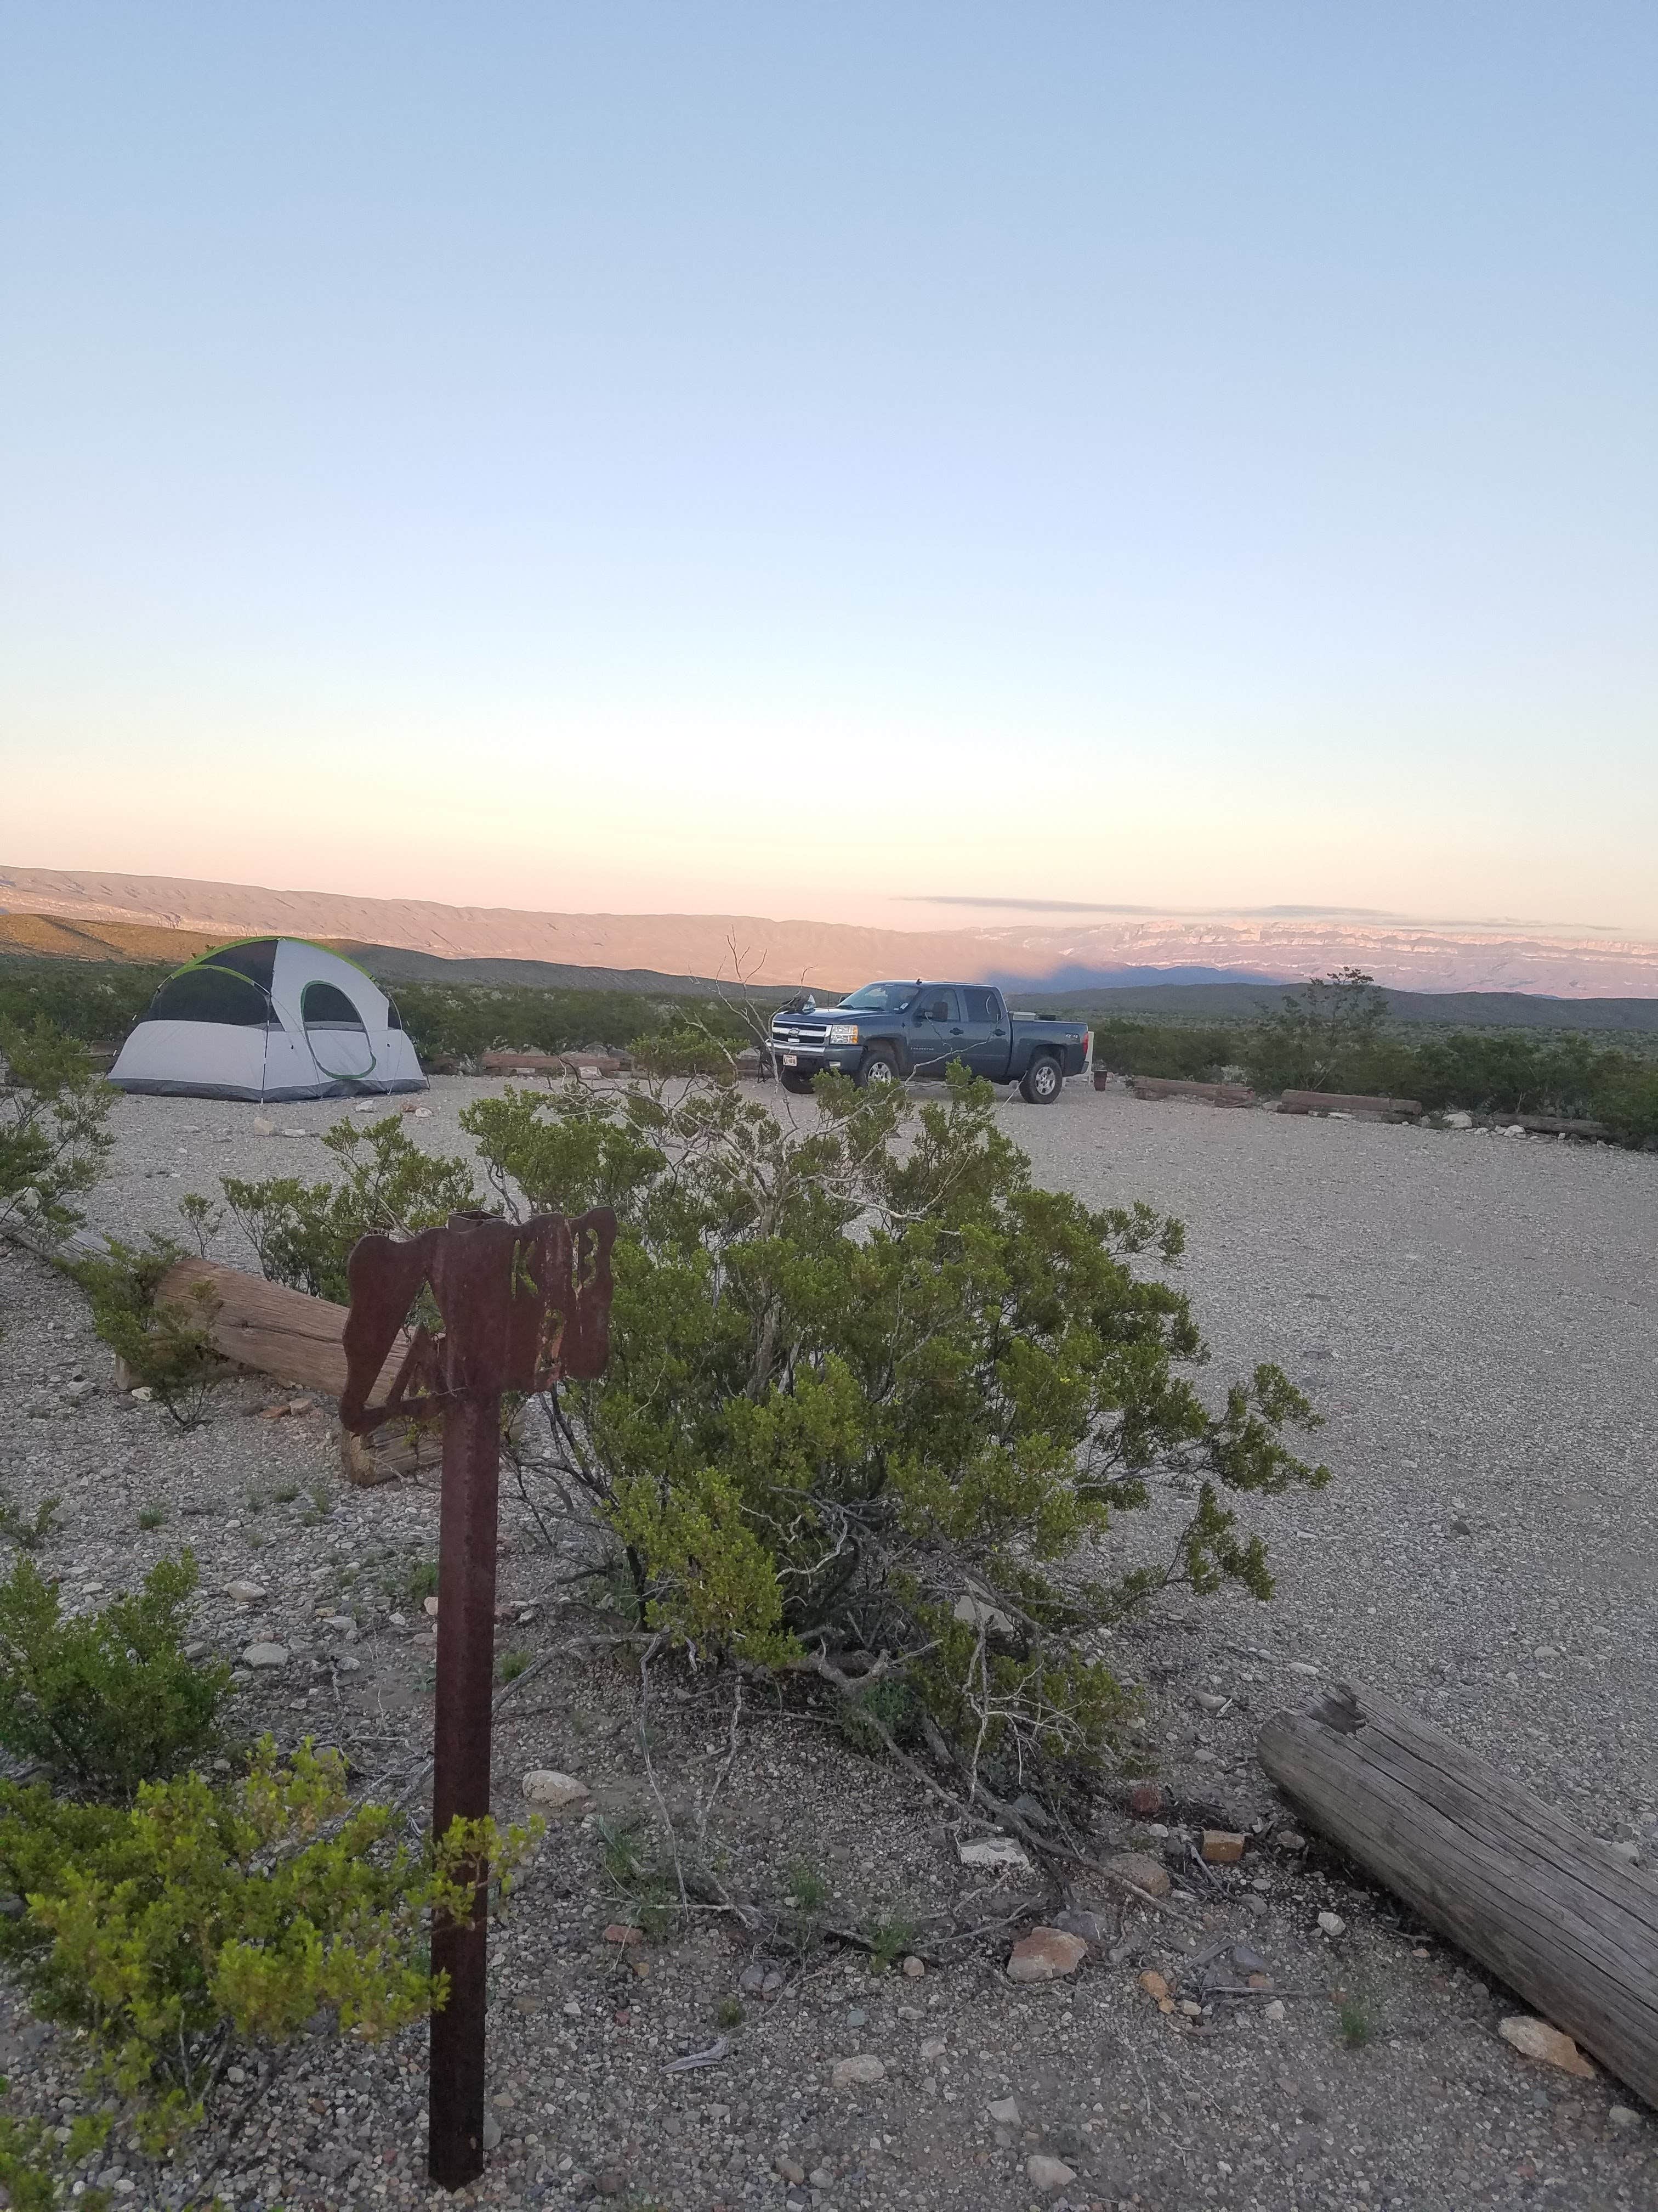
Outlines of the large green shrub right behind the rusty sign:
[[[550,1475],[679,1644],[847,1692],[884,1652],[975,1787],[1088,1774],[1127,1717],[1099,1630],[1169,1579],[1271,1593],[1227,1500],[1326,1480],[1284,1440],[1311,1407],[1262,1365],[1209,1409],[1187,1298],[1132,1267],[1178,1223],[1035,1190],[988,1084],[816,1095],[811,1128],[696,1082],[464,1110],[504,1206],[621,1221]],[[1112,1566],[1119,1515],[1187,1486],[1172,1562]]]

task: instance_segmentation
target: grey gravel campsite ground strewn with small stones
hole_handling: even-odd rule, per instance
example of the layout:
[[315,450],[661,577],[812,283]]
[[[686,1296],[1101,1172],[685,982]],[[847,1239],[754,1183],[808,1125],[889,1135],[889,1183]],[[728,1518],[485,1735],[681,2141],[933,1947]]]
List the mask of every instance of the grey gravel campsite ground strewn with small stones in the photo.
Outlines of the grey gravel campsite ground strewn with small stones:
[[[407,1126],[458,1150],[458,1110],[484,1088],[438,1079]],[[276,1135],[256,1135],[252,1106],[122,1099],[88,1221],[177,1232],[177,1199],[214,1197],[221,1175],[321,1177],[316,1137],[343,1110],[270,1108]],[[464,2201],[1658,2203],[1654,2115],[1598,2070],[1576,2079],[1501,2042],[1499,2020],[1525,2006],[1298,1838],[1253,1759],[1269,1712],[1353,1677],[1658,1867],[1658,1157],[1081,1084],[1054,1108],[999,1113],[1037,1181],[1187,1223],[1178,1279],[1214,1352],[1205,1389],[1271,1358],[1326,1413],[1335,1484],[1251,1506],[1276,1601],[1176,1593],[1119,1639],[1150,1692],[1165,1807],[1152,1825],[1105,1803],[1094,1845],[1169,1863],[1180,1918],[1079,1893],[1072,1909],[1099,1918],[1085,1962],[1012,1984],[1039,1885],[964,1867],[942,1807],[825,1719],[752,1697],[730,1756],[718,1677],[663,1663],[648,1772],[637,1666],[577,1641],[604,1619],[568,1599],[508,1502],[502,1650],[557,1657],[502,1703],[495,1809],[522,1818],[528,1770],[590,1794],[553,1820],[493,1938],[493,2150]],[[250,1259],[232,1232],[212,1256]],[[436,1557],[433,1480],[345,1489],[332,1409],[285,1411],[292,1391],[256,1378],[223,1391],[206,1429],[177,1431],[113,1389],[73,1285],[11,1248],[0,1329],[0,1482],[27,1511],[62,1498],[40,1559],[66,1601],[102,1604],[188,1542],[203,1644],[285,1652],[243,1670],[237,1723],[340,1743],[365,1783],[418,1803],[433,1652],[413,1571]],[[1167,1528],[1134,1520],[1130,1542],[1156,1548]],[[630,1900],[606,1874],[606,1829],[648,1838],[654,1790],[707,1818],[732,1889],[780,1900],[816,1874],[836,1927],[917,1927],[922,1971],[875,1975],[836,1940],[756,1958],[718,1911],[659,1942],[608,1940]],[[1194,1867],[1185,1834],[1203,1825],[1251,1836],[1238,1867]],[[959,1940],[993,1920],[1001,1933]],[[1229,1986],[1271,1986],[1205,1995],[1216,1960]],[[1165,1978],[1174,2011],[1143,1973]],[[71,2110],[75,2051],[4,2002],[0,2070]],[[422,2033],[307,2039],[245,2097],[208,2194],[245,2212],[442,2201],[424,2183]],[[130,2205],[188,2188],[130,2152],[102,2179]]]

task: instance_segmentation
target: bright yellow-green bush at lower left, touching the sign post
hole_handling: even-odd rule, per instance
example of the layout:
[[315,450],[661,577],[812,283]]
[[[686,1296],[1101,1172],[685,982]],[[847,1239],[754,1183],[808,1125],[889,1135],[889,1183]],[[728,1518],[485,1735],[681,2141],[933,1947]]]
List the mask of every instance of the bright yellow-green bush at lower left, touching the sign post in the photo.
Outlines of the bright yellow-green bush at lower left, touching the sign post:
[[0,1874],[24,1898],[0,1958],[42,2020],[88,2042],[93,2084],[164,2150],[203,2117],[239,2046],[281,2046],[318,2008],[365,2039],[447,1995],[427,1918],[466,1916],[466,1869],[502,1880],[533,1843],[455,1823],[440,1847],[391,1843],[400,1814],[349,1805],[345,1761],[309,1743],[248,1772],[144,1783],[130,1807],[0,1785]]

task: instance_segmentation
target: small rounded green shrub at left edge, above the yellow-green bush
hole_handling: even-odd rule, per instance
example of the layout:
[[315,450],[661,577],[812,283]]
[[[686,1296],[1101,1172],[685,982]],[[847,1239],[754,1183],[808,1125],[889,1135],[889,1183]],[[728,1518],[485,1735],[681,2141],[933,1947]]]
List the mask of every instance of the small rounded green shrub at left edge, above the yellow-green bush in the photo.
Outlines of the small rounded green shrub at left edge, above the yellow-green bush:
[[210,1752],[230,1670],[183,1657],[195,1588],[186,1551],[139,1593],[64,1617],[57,1588],[20,1557],[0,1582],[0,1745],[119,1798]]

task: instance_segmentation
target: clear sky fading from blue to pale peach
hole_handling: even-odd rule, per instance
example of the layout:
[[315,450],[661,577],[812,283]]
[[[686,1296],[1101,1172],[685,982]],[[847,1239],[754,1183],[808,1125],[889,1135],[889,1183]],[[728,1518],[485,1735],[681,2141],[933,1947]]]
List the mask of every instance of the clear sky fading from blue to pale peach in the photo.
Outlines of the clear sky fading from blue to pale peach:
[[1658,11],[11,0],[0,863],[1658,936]]

